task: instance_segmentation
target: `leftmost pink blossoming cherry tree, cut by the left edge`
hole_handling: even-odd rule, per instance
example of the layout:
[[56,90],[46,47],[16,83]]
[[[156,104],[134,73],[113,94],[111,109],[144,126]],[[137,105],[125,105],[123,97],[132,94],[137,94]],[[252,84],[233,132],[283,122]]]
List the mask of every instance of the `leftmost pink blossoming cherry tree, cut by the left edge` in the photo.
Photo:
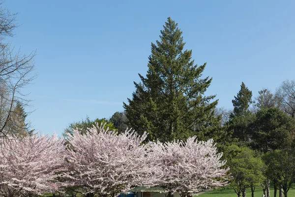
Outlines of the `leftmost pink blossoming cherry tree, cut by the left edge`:
[[56,135],[32,135],[0,142],[0,195],[36,196],[58,190],[65,148]]

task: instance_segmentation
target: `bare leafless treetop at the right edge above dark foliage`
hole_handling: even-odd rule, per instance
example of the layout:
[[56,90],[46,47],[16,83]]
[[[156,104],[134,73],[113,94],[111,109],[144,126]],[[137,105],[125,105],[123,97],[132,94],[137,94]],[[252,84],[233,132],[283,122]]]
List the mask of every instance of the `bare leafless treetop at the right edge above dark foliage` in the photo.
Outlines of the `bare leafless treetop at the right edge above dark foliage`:
[[295,81],[283,81],[276,90],[275,97],[280,104],[279,107],[292,116],[292,118],[295,118]]

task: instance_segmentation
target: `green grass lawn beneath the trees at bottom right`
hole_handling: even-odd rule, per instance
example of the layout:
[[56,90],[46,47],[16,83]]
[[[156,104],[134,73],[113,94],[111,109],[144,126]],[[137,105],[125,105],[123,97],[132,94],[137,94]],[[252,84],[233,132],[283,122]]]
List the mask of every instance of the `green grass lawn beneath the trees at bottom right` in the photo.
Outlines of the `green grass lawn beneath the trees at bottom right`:
[[[254,197],[262,197],[263,191],[258,188],[254,192]],[[246,190],[246,196],[251,197],[251,189]],[[270,196],[273,197],[273,189],[270,188]],[[277,197],[279,196],[279,191],[277,192]],[[205,194],[201,194],[198,197],[237,197],[233,189],[218,189]],[[295,189],[290,188],[288,192],[288,197],[295,197]]]

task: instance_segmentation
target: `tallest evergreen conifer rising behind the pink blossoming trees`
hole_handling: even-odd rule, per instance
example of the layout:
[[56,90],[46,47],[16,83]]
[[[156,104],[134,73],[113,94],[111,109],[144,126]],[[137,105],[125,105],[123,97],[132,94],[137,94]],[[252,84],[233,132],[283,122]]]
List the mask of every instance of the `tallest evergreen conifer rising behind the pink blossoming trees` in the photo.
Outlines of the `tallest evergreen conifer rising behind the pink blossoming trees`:
[[202,66],[191,60],[192,50],[183,50],[182,32],[168,18],[160,40],[151,43],[148,73],[139,74],[133,98],[124,103],[128,124],[136,131],[147,131],[150,139],[161,141],[185,139],[197,134],[199,138],[214,137],[220,131],[214,116],[218,100],[205,96],[212,78],[202,77]]

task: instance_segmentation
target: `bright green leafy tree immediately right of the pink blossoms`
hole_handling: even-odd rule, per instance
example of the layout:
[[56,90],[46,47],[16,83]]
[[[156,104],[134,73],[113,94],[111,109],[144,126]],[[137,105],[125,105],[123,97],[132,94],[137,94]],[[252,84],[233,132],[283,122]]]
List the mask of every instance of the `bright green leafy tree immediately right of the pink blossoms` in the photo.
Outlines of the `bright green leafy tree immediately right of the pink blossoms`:
[[238,147],[237,145],[229,146],[224,152],[224,157],[233,177],[229,181],[229,187],[235,191],[238,197],[241,194],[245,196],[246,189],[251,188],[252,197],[254,197],[255,188],[264,179],[262,159],[248,147]]

